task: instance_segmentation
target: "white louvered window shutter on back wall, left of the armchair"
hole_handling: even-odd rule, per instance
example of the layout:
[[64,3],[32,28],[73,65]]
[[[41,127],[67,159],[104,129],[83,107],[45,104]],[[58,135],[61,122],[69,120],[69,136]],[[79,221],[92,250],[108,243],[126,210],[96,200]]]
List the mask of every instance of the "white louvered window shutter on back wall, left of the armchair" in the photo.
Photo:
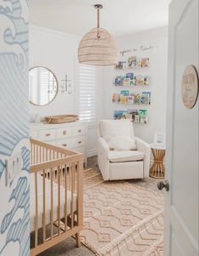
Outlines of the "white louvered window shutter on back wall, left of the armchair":
[[96,119],[96,67],[79,65],[79,110],[80,120]]

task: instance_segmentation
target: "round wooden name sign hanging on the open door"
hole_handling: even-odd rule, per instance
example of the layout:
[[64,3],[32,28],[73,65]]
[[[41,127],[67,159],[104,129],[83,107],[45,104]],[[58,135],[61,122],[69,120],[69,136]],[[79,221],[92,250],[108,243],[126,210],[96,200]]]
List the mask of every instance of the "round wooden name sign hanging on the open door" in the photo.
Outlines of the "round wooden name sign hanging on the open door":
[[182,80],[182,100],[188,109],[191,109],[197,100],[198,95],[198,76],[196,68],[188,65],[185,68]]

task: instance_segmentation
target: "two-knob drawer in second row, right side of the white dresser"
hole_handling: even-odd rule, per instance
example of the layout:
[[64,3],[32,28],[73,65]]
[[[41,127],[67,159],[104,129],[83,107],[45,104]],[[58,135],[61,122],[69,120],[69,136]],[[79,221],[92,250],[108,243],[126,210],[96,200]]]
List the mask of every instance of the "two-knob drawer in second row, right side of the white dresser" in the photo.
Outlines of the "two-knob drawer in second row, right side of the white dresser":
[[58,146],[62,146],[64,148],[68,148],[68,149],[82,147],[82,146],[85,146],[85,144],[86,144],[85,136],[57,140]]

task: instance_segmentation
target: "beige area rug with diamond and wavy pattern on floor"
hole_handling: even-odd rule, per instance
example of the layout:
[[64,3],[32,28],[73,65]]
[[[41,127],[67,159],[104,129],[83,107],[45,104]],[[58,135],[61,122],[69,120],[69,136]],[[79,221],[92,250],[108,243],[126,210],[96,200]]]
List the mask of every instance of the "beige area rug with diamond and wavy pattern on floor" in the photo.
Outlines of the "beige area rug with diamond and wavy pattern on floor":
[[84,171],[81,242],[101,256],[163,255],[163,195]]

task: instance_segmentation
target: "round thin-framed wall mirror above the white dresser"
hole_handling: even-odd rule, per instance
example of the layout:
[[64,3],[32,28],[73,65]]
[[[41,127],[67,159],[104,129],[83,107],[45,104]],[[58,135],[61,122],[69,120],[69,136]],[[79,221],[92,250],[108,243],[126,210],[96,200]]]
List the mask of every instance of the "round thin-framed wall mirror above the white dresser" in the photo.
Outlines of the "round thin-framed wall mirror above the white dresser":
[[47,105],[58,94],[58,79],[44,66],[35,66],[29,71],[29,100],[33,105]]

